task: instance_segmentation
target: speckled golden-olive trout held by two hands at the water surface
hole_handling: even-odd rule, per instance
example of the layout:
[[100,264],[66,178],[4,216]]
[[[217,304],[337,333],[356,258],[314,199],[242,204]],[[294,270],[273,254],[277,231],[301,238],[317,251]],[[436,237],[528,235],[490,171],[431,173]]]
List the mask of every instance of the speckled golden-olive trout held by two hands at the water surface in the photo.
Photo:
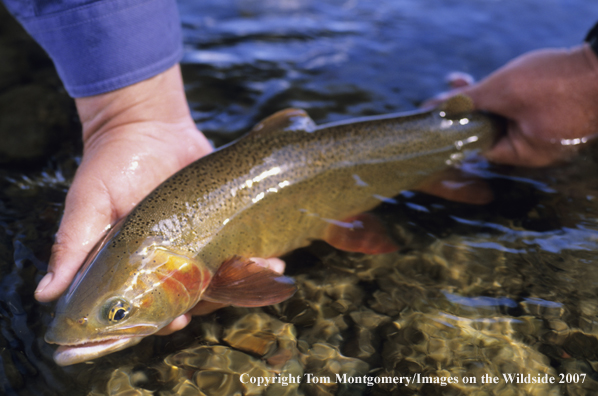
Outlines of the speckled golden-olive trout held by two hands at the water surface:
[[355,225],[347,219],[464,150],[490,146],[500,122],[471,110],[458,96],[431,111],[319,127],[302,110],[266,118],[174,174],[107,233],[58,301],[46,334],[61,345],[55,361],[134,345],[200,300],[256,307],[289,298],[293,281],[249,258],[314,239],[343,248]]

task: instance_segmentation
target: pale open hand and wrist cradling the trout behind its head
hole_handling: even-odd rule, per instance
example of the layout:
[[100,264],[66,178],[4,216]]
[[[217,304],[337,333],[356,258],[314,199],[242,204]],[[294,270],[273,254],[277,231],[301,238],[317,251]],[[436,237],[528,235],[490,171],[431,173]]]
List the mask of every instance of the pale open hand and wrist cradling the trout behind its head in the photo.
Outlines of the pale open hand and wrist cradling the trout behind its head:
[[[76,105],[83,157],[48,274],[35,292],[39,301],[54,300],[67,289],[111,224],[170,175],[212,151],[191,118],[178,66],[117,91],[78,98]],[[176,328],[175,323],[171,330]]]

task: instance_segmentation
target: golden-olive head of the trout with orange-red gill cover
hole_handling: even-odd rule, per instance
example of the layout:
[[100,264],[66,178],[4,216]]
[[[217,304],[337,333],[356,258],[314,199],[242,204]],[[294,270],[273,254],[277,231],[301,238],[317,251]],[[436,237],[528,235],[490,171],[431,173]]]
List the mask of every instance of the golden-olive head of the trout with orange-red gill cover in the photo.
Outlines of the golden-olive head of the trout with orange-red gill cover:
[[119,238],[117,224],[59,299],[45,340],[59,365],[132,346],[192,308],[211,272],[167,241]]

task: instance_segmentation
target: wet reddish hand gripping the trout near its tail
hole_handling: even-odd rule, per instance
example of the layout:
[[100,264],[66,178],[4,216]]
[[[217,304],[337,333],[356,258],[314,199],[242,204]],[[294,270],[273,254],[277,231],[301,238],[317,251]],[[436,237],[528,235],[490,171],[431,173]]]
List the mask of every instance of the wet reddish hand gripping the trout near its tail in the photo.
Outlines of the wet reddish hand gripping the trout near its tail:
[[598,133],[598,58],[587,44],[524,54],[454,93],[507,118],[506,134],[485,153],[493,162],[550,165]]

